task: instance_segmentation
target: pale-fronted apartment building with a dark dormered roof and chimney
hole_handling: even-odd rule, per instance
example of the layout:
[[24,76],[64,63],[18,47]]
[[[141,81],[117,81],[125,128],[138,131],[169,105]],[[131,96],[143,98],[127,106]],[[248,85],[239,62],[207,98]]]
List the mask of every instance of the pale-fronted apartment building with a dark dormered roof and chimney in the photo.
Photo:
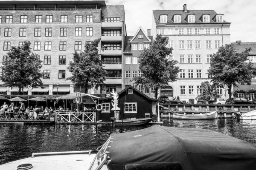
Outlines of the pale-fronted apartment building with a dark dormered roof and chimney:
[[[209,81],[207,69],[210,54],[216,53],[221,45],[230,44],[230,24],[223,14],[214,10],[155,10],[152,15],[152,36],[169,37],[169,47],[173,48],[169,59],[175,59],[182,71],[177,82],[169,83],[171,96],[195,103],[201,93],[201,82]],[[166,94],[166,89],[160,92]],[[218,88],[218,94],[225,95]],[[225,96],[222,96],[225,97]]]

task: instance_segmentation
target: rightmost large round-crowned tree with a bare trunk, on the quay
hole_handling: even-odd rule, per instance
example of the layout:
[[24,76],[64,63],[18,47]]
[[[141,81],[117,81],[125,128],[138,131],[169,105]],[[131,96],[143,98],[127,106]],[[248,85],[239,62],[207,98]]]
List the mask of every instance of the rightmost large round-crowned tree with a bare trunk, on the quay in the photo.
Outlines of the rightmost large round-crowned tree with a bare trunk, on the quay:
[[226,44],[210,58],[211,65],[208,74],[212,77],[211,82],[221,88],[227,86],[230,99],[232,86],[251,85],[251,79],[256,75],[252,62],[248,61],[249,51],[250,48],[239,53],[232,45]]

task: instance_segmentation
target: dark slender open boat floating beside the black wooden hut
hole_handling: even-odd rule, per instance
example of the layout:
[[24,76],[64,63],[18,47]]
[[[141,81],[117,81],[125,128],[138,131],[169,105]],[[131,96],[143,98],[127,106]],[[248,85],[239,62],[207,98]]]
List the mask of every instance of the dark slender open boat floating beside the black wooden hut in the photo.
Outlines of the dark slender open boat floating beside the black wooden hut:
[[138,126],[138,125],[146,125],[151,122],[153,118],[145,118],[145,119],[128,119],[128,120],[116,120],[113,122],[115,126]]

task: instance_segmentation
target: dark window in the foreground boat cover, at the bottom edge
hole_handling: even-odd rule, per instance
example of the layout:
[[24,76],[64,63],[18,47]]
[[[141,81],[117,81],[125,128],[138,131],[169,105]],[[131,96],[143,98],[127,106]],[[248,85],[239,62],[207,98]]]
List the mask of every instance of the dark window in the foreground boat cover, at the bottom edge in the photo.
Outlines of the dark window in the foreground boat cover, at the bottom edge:
[[126,164],[125,170],[183,170],[180,163],[138,163]]

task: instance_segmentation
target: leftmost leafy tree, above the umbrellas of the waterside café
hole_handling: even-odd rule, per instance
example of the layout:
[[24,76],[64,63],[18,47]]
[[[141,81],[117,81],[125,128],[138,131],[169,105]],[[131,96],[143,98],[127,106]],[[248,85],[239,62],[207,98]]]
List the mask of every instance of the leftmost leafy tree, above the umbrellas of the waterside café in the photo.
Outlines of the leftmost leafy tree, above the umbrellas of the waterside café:
[[4,85],[8,87],[19,88],[19,94],[23,88],[38,88],[43,87],[41,77],[41,60],[40,58],[31,52],[31,42],[25,41],[21,46],[12,46],[11,51],[7,53],[8,58],[3,61],[2,75],[0,79],[4,82]]

